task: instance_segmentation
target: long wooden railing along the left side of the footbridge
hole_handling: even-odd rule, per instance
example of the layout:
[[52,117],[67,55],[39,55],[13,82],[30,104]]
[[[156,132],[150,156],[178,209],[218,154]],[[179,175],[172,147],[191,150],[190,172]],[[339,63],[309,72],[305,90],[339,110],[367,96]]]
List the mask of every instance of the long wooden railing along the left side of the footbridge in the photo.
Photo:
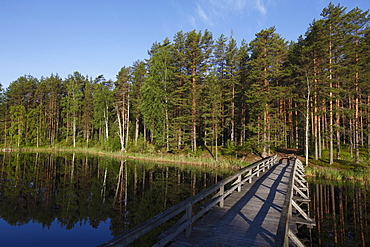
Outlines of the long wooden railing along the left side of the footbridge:
[[[189,237],[191,226],[196,220],[217,204],[219,204],[220,207],[223,207],[224,200],[227,196],[235,190],[240,192],[241,186],[244,183],[251,183],[254,177],[259,177],[261,172],[265,172],[270,169],[275,164],[276,160],[277,155],[274,155],[243,168],[234,175],[223,179],[217,184],[208,187],[198,194],[182,201],[181,203],[133,227],[100,246],[127,246],[168,220],[177,217],[180,213],[183,213],[183,216],[180,217],[177,223],[175,223],[170,229],[166,230],[159,236],[160,241],[154,246],[166,245],[183,231],[185,231],[186,236]],[[211,197],[212,194],[215,195]],[[210,199],[201,206],[199,212],[194,212],[193,215],[193,206],[207,197]]]

